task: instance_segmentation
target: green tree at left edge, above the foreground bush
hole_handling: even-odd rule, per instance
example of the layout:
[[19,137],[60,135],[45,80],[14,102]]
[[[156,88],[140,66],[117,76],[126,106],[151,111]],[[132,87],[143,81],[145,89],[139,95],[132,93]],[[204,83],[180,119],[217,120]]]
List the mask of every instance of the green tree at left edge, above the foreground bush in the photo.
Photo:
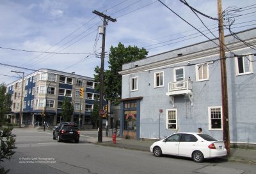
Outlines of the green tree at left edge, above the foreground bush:
[[0,85],[0,120],[4,120],[4,114],[10,113],[12,111],[11,110],[12,95],[9,93],[5,94],[5,92],[6,92],[6,85],[2,83]]

